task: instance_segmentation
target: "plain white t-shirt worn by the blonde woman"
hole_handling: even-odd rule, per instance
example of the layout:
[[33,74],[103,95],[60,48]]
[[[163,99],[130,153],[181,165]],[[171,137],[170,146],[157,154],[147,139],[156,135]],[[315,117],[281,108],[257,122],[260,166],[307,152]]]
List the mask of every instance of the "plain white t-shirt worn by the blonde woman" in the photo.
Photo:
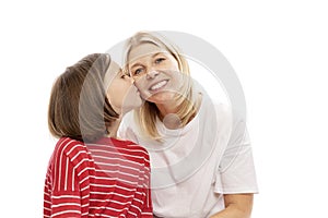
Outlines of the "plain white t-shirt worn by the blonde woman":
[[150,153],[154,215],[202,218],[224,208],[223,195],[257,193],[245,122],[230,107],[202,96],[197,116],[183,129],[156,123],[163,142],[142,137],[131,111],[118,135]]

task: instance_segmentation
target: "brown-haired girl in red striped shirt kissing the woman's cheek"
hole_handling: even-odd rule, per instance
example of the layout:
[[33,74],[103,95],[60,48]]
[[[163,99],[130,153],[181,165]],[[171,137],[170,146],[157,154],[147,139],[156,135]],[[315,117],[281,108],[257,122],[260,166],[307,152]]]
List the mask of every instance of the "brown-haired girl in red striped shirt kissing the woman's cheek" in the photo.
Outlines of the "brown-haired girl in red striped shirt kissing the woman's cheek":
[[142,104],[133,80],[106,53],[56,80],[48,125],[59,138],[48,165],[44,217],[152,217],[148,152],[116,132]]

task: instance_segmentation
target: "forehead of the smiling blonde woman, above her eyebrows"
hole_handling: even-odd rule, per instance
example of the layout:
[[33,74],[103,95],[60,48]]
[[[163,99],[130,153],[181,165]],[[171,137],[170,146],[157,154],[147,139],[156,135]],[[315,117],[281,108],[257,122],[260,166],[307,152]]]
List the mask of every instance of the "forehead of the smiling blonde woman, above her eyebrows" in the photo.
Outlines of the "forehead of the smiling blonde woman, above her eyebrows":
[[152,43],[144,43],[133,47],[129,52],[128,59],[130,62],[133,62],[140,58],[153,56],[155,53],[163,53],[163,52],[168,52],[168,51]]

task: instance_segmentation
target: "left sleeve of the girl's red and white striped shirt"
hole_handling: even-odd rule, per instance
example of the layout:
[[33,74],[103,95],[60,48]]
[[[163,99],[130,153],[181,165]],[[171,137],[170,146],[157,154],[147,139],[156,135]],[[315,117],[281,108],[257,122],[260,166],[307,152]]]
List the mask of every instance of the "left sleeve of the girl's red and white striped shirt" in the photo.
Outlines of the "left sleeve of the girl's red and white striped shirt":
[[81,217],[79,171],[69,155],[78,154],[79,146],[69,138],[57,143],[46,178],[44,217]]

